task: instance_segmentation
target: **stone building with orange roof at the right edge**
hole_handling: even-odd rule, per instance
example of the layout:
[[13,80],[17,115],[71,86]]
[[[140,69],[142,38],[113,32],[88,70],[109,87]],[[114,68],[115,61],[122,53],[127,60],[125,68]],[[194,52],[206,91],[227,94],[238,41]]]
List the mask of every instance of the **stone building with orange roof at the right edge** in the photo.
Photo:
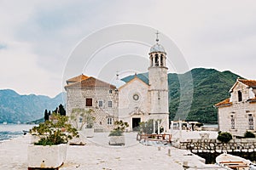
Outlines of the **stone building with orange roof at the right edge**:
[[230,88],[230,98],[215,105],[218,108],[220,131],[243,136],[246,131],[255,133],[256,81],[237,79]]

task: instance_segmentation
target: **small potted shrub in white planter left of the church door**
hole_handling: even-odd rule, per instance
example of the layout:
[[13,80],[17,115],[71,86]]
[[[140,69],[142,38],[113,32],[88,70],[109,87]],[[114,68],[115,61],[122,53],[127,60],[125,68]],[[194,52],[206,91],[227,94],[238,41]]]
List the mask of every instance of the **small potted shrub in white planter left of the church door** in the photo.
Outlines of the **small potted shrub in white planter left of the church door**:
[[109,145],[125,145],[125,128],[129,127],[129,124],[127,122],[123,121],[116,121],[114,122],[114,128],[109,133]]

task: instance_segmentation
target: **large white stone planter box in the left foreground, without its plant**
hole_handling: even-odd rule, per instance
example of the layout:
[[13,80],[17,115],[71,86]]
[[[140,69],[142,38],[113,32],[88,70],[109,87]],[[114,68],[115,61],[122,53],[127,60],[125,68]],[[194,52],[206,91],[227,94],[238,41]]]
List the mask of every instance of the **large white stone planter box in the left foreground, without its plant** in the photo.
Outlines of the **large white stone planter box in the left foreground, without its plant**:
[[27,150],[28,169],[57,168],[66,160],[67,144],[58,145],[34,145],[29,144]]

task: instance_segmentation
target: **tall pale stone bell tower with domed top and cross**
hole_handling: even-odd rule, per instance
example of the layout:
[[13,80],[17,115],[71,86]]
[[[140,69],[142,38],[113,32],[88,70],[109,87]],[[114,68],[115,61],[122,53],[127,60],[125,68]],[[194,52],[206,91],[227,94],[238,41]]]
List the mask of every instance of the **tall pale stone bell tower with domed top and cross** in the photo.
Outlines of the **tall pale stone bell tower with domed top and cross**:
[[148,67],[150,110],[149,119],[160,120],[160,126],[169,129],[168,102],[168,68],[166,67],[166,51],[160,45],[159,32],[156,32],[156,43],[149,51],[150,65]]

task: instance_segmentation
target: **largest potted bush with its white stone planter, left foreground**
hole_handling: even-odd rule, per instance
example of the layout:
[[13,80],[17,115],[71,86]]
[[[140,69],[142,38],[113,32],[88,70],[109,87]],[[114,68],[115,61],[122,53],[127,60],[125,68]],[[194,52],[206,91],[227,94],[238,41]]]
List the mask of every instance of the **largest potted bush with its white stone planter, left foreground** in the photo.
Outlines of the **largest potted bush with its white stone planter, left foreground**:
[[32,127],[30,133],[39,139],[28,145],[28,169],[61,167],[66,159],[68,140],[79,137],[77,129],[67,121],[67,116],[53,114],[51,120]]

